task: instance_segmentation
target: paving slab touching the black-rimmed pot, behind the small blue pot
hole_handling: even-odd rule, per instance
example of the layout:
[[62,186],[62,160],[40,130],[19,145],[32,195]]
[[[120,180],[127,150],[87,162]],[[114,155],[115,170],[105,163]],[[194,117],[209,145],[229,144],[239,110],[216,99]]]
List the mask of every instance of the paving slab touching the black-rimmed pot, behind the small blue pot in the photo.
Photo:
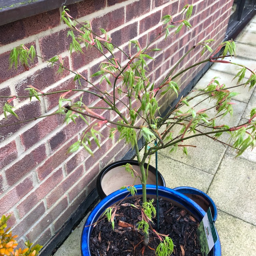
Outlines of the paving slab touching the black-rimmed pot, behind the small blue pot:
[[160,151],[158,153],[158,170],[163,175],[166,186],[169,188],[189,186],[206,193],[213,179],[212,174],[175,161],[162,155]]

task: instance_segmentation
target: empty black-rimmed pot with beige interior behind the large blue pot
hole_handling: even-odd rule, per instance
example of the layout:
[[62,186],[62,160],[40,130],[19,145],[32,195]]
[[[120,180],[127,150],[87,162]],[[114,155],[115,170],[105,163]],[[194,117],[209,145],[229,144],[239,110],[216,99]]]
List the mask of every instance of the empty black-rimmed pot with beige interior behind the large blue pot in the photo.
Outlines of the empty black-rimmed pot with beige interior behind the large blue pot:
[[[136,160],[120,160],[106,166],[98,175],[97,178],[97,191],[101,199],[105,198],[112,192],[120,189],[122,186],[132,185],[134,179],[131,174],[125,171],[126,163],[130,163],[133,168],[140,173],[139,164]],[[144,164],[144,168],[147,168],[147,163]],[[141,184],[140,179],[137,179],[136,185]],[[156,185],[156,168],[149,165],[147,184]],[[158,185],[166,186],[163,176],[158,172]]]

